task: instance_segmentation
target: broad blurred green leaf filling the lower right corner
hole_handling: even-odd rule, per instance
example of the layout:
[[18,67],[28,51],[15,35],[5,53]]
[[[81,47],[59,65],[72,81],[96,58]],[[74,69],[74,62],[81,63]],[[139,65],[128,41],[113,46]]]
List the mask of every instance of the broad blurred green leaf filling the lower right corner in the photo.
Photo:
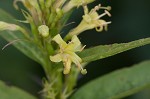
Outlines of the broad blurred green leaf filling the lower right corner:
[[150,86],[149,75],[150,61],[145,61],[87,83],[71,99],[121,99]]

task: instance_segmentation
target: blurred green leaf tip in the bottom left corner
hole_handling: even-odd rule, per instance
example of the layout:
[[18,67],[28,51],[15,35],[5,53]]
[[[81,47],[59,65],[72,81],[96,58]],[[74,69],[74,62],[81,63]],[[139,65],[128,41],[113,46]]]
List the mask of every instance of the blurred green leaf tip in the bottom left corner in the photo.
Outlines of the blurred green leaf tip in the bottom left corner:
[[1,99],[37,99],[36,97],[28,94],[27,92],[14,87],[7,86],[0,81],[0,98]]

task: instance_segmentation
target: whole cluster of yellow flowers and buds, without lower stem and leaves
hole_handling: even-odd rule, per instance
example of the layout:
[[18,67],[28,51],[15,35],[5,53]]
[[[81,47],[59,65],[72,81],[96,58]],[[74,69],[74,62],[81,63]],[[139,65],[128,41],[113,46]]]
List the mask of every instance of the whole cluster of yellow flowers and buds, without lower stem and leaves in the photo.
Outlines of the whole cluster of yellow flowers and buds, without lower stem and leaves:
[[[100,4],[89,11],[87,4],[94,0],[14,0],[14,6],[19,9],[17,2],[21,2],[28,11],[22,10],[25,21],[31,26],[31,34],[25,28],[0,21],[0,31],[21,31],[28,40],[34,41],[37,46],[42,47],[47,56],[50,57],[49,62],[63,62],[64,74],[68,74],[71,70],[71,65],[74,63],[79,67],[82,74],[86,74],[86,69],[81,66],[82,59],[76,52],[80,52],[85,46],[81,45],[77,35],[83,31],[95,28],[101,32],[107,30],[107,22],[101,19],[103,16],[111,16],[109,11],[111,7],[102,7]],[[69,14],[74,7],[82,6],[84,15],[81,23],[72,29],[64,38],[60,36],[60,32],[65,25],[65,15]],[[98,10],[104,9],[103,14],[98,14]],[[69,41],[66,43],[66,41]],[[56,45],[52,44],[55,41],[59,47],[55,51]],[[55,55],[56,54],[56,55]]]

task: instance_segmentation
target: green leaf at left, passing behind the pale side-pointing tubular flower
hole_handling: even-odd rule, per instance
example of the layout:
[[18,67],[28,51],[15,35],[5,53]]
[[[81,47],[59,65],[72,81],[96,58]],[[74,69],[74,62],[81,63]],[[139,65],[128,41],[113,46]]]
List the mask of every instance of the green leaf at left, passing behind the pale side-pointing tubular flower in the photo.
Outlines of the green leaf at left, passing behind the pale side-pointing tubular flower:
[[[0,9],[0,21],[18,24],[14,18]],[[37,61],[38,63],[44,64],[44,55],[41,49],[33,42],[25,40],[25,36],[20,31],[0,31],[0,36],[2,36],[8,42],[12,42],[17,39],[21,39],[14,43],[14,46],[23,52],[25,55],[31,59]]]

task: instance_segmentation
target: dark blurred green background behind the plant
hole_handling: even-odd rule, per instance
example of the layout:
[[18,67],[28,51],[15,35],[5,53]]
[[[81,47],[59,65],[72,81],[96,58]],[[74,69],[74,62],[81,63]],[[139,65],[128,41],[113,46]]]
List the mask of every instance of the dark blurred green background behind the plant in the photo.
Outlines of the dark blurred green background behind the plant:
[[[19,11],[12,5],[13,0],[0,0],[0,8],[12,14],[16,19],[24,19]],[[113,44],[129,42],[141,38],[150,37],[150,0],[96,0],[89,5],[90,8],[101,3],[104,6],[112,6],[112,17],[104,17],[112,21],[109,30],[97,33],[90,30],[82,33],[79,38],[88,47],[100,44]],[[102,12],[100,12],[102,13]],[[83,14],[82,8],[75,10],[68,22],[76,22],[64,28],[67,32],[78,25]],[[7,42],[0,38],[0,48]],[[106,59],[90,63],[86,68],[88,74],[79,76],[77,88],[88,81],[107,74],[119,68],[131,66],[143,60],[150,59],[150,46],[136,48]],[[44,76],[41,66],[28,57],[24,56],[13,46],[0,50],[0,80],[7,84],[23,88],[34,95],[38,93],[41,86],[41,79]],[[149,76],[149,75],[148,75]],[[150,99],[150,89],[147,88],[126,99]]]

